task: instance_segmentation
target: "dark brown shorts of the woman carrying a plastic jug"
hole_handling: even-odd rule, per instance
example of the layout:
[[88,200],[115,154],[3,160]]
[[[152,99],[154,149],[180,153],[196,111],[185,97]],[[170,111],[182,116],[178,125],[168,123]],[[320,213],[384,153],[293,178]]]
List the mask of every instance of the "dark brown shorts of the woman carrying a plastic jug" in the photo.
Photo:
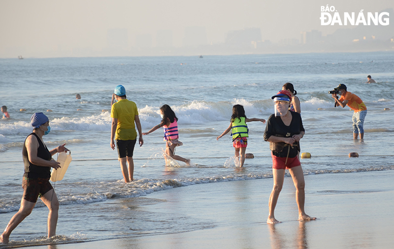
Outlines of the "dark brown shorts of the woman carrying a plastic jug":
[[53,189],[49,178],[27,178],[22,180],[22,187],[24,189],[22,198],[30,201],[37,202],[38,197],[41,198],[49,190]]

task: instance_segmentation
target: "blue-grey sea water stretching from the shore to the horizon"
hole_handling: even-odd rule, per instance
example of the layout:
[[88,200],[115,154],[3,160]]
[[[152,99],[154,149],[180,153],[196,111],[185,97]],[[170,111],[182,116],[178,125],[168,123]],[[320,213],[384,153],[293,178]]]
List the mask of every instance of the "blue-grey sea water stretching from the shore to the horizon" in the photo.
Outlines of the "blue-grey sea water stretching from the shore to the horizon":
[[[274,112],[271,96],[286,82],[294,84],[301,101],[301,152],[312,155],[301,159],[304,174],[394,169],[393,58],[393,52],[374,52],[1,59],[0,105],[7,106],[11,118],[0,121],[0,229],[19,209],[21,151],[32,132],[34,112],[49,117],[51,133],[43,137],[48,148],[66,143],[73,158],[66,176],[55,185],[61,205],[59,243],[208,227],[192,218],[160,221],[165,217],[153,218],[138,207],[150,204],[152,200],[143,196],[154,191],[195,184],[207,184],[209,191],[216,182],[272,178],[263,123],[248,123],[246,152],[255,158],[246,159],[243,169],[236,167],[230,133],[219,141],[216,137],[229,126],[234,104],[243,105],[248,118],[268,119]],[[366,84],[368,74],[377,83]],[[119,84],[137,104],[143,132],[160,123],[163,104],[171,106],[184,144],[175,154],[191,158],[190,166],[179,161],[164,166],[159,129],[143,136],[142,147],[135,146],[134,181],[125,184],[117,152],[110,148],[110,102]],[[363,141],[353,140],[353,111],[334,108],[328,91],[338,84],[345,84],[367,106]],[[76,93],[81,99],[75,99]],[[349,158],[351,152],[360,157]],[[11,234],[14,245],[47,243],[46,214],[47,208],[37,201],[30,221]],[[125,218],[132,219],[132,229],[125,231]]]

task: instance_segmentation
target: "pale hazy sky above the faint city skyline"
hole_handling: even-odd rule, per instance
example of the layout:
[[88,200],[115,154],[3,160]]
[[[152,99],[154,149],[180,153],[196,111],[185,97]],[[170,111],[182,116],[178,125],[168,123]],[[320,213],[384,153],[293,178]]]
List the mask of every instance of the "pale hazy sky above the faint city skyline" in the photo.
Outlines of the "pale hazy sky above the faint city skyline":
[[108,29],[127,29],[130,46],[139,34],[151,34],[155,46],[159,30],[171,30],[173,45],[182,46],[185,27],[205,27],[213,44],[244,28],[260,28],[262,38],[273,42],[298,39],[300,31],[326,35],[338,28],[320,25],[320,6],[327,4],[338,12],[394,8],[393,0],[0,0],[0,57],[19,50],[36,56],[101,50]]

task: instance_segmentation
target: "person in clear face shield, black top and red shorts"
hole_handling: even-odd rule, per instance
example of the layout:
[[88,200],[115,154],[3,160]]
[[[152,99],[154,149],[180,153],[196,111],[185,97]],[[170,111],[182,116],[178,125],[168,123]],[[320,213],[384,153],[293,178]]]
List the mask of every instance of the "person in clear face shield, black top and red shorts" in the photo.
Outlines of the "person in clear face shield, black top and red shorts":
[[305,181],[301,163],[297,157],[298,142],[304,136],[305,129],[299,113],[289,111],[291,94],[282,90],[272,96],[275,104],[275,114],[272,114],[265,127],[264,140],[270,143],[272,157],[272,175],[274,187],[269,197],[269,215],[267,223],[279,223],[274,210],[282,190],[286,169],[293,178],[296,187],[296,202],[298,205],[298,220],[316,219],[305,214]]

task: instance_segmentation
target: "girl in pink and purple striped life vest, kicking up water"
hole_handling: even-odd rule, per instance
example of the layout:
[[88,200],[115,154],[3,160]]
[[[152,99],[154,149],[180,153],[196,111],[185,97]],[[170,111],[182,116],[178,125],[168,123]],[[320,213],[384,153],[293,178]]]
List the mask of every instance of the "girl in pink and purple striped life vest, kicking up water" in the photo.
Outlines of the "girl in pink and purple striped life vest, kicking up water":
[[[165,141],[165,154],[171,158],[185,162],[186,165],[190,165],[190,159],[185,159],[181,156],[174,155],[175,147],[183,145],[181,141],[178,140],[178,118],[175,116],[174,111],[169,107],[169,105],[163,105],[160,107],[160,116],[162,121],[159,125],[154,126],[148,132],[142,133],[142,135],[148,135],[158,128],[164,128],[164,141]],[[165,166],[169,166],[167,158],[164,157]]]

